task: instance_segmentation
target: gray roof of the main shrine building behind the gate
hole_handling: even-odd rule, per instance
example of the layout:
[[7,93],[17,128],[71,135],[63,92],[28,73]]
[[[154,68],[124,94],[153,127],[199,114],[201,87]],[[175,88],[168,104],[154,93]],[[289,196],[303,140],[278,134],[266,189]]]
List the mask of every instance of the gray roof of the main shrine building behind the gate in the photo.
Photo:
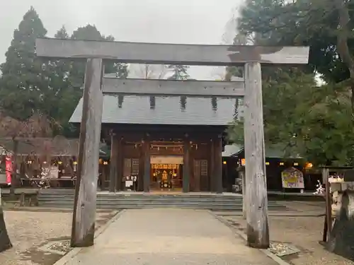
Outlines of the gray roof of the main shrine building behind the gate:
[[[111,124],[169,124],[169,125],[216,125],[232,122],[235,114],[235,98],[187,98],[185,109],[178,96],[156,97],[155,107],[150,108],[149,96],[103,96],[102,123]],[[121,103],[121,105],[120,105]],[[69,122],[81,122],[82,98]]]

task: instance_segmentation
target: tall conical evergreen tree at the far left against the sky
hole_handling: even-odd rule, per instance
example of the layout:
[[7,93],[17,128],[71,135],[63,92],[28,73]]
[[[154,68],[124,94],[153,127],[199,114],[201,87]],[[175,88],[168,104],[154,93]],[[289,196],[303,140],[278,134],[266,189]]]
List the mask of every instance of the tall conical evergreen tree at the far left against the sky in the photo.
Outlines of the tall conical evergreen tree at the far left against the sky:
[[48,91],[47,63],[35,56],[35,39],[46,34],[38,13],[31,7],[13,32],[6,61],[0,66],[0,106],[16,119],[27,119],[46,104],[43,95]]

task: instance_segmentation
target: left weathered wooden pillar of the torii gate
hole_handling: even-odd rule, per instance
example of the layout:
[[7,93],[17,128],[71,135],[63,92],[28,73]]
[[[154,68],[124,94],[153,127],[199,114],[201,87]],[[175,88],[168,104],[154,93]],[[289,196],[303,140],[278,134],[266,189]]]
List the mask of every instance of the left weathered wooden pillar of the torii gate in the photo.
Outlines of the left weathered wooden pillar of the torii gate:
[[72,220],[72,247],[93,245],[103,105],[102,73],[102,59],[87,60]]

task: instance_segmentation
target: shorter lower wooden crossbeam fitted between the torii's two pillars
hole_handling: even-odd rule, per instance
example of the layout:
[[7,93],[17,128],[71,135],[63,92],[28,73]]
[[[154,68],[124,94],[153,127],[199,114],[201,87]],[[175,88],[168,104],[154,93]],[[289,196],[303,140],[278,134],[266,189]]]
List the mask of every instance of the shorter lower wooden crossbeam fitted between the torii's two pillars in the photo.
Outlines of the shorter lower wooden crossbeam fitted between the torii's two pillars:
[[244,81],[180,81],[103,78],[103,93],[125,95],[187,95],[195,97],[241,97]]

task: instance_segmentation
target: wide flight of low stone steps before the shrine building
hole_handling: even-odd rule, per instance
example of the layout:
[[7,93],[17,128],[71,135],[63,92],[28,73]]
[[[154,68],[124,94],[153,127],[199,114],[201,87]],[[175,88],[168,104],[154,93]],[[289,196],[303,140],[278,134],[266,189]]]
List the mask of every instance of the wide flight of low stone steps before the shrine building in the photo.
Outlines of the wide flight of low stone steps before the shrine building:
[[[73,208],[74,191],[51,190],[40,192],[38,204],[50,208]],[[123,208],[190,208],[213,211],[242,211],[242,196],[224,194],[144,194],[98,193],[98,209]],[[270,201],[270,211],[284,211],[286,206]]]

